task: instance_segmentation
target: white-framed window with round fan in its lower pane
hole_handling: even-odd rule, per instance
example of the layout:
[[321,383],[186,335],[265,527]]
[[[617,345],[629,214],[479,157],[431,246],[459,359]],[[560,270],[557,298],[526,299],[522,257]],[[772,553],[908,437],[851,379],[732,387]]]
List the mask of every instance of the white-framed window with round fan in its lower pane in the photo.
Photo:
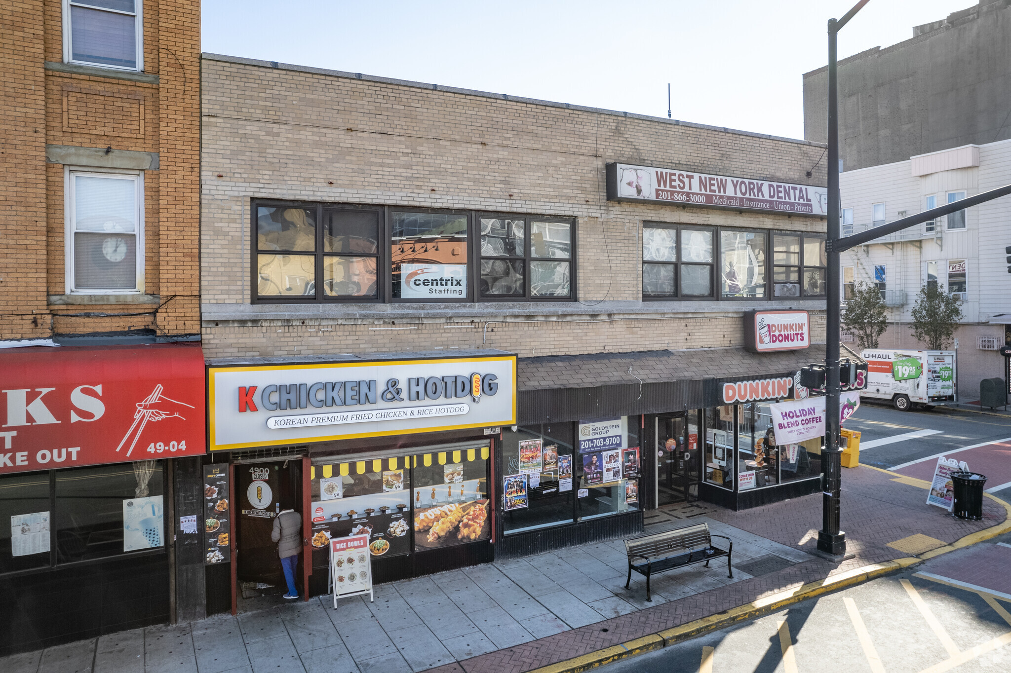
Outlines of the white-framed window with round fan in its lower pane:
[[68,170],[67,183],[68,292],[136,292],[144,260],[143,175]]

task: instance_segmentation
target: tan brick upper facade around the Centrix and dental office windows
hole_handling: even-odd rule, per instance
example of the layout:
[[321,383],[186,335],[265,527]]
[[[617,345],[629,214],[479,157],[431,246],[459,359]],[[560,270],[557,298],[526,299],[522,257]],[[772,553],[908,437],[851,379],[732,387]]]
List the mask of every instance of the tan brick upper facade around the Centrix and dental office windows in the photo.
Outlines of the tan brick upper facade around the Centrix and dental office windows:
[[[605,194],[613,161],[824,184],[821,146],[209,55],[202,77],[208,358],[740,346],[742,311],[773,306],[814,311],[813,341],[824,342],[823,300],[644,302],[641,289],[644,221],[824,231],[821,218],[617,203]],[[573,217],[578,301],[253,304],[254,198]]]

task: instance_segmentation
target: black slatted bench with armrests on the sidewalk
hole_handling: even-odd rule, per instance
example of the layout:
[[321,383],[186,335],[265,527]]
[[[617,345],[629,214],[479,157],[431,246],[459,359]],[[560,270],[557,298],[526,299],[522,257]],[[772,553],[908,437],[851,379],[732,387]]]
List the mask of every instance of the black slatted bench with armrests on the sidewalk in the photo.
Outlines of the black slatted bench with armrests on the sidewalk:
[[[723,538],[730,543],[730,549],[713,546],[713,538]],[[734,550],[733,541],[727,536],[710,535],[708,523],[696,523],[683,528],[651,533],[625,541],[625,552],[629,557],[629,576],[625,588],[632,582],[632,571],[646,576],[646,600],[652,601],[649,591],[649,576],[674,568],[683,568],[694,563],[709,562],[727,557],[727,571],[734,576],[730,567],[730,554]]]

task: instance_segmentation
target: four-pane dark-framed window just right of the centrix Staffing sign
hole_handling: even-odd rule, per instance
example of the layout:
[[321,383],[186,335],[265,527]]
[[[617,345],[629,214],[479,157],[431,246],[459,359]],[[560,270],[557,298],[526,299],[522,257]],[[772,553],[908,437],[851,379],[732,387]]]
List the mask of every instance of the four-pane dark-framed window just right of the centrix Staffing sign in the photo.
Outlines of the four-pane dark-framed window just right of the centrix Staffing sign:
[[482,214],[479,224],[482,299],[571,299],[571,220]]

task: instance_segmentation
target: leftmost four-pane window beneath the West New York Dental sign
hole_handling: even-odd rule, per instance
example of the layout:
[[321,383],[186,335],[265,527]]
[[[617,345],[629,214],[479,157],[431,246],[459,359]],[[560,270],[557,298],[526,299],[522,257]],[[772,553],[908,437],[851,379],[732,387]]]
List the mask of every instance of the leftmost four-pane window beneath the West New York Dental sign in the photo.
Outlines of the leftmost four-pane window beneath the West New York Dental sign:
[[643,297],[712,297],[714,238],[712,229],[646,223],[642,229]]

